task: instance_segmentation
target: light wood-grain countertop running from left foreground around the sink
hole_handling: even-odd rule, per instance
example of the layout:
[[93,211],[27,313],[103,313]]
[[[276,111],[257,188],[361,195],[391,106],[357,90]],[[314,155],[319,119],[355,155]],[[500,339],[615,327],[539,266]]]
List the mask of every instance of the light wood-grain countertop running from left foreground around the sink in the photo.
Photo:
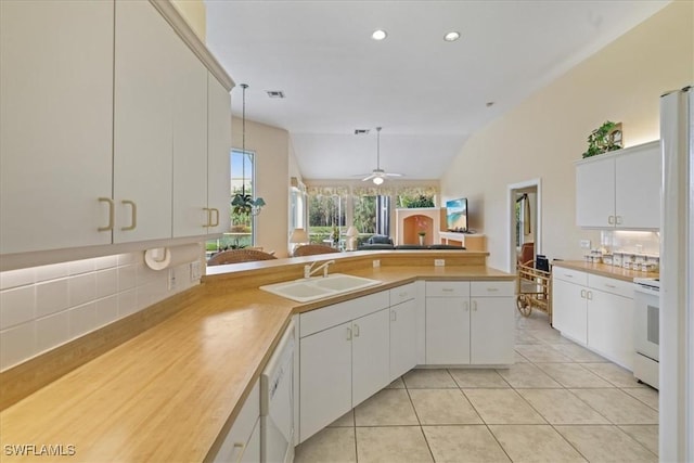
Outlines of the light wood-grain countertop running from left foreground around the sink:
[[[193,462],[209,459],[237,415],[293,313],[415,280],[514,280],[480,266],[369,268],[383,281],[350,295],[299,304],[206,279],[187,309],[0,413],[7,446],[73,446],[69,461]],[[60,459],[60,458],[59,458]],[[55,460],[55,458],[49,458]]]

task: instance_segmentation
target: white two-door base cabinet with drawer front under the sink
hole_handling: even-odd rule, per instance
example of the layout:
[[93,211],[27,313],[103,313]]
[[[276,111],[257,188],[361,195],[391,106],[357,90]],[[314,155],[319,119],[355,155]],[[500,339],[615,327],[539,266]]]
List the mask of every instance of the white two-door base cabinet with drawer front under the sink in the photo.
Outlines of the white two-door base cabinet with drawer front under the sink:
[[299,441],[389,381],[388,292],[299,317]]

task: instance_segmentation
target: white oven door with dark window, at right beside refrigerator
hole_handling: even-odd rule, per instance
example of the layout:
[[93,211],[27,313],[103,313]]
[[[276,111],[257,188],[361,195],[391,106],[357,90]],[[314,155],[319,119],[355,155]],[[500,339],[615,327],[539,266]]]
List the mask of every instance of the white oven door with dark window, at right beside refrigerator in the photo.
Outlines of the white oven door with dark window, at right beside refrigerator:
[[637,352],[657,361],[660,349],[660,294],[656,290],[635,285],[633,296],[634,348]]

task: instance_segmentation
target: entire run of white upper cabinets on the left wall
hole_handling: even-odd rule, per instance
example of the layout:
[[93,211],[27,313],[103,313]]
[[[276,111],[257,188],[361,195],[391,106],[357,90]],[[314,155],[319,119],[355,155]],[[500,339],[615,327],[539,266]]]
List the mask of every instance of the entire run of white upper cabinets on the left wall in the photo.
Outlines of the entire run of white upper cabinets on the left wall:
[[0,21],[11,266],[228,228],[233,82],[170,3],[3,0]]

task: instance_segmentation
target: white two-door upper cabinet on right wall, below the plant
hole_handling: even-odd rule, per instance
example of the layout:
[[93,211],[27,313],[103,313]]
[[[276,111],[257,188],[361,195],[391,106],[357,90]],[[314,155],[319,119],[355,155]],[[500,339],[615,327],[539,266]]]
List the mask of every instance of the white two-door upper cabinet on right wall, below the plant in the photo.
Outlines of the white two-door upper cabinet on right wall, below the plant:
[[576,165],[576,222],[586,228],[658,229],[660,142],[602,154]]

